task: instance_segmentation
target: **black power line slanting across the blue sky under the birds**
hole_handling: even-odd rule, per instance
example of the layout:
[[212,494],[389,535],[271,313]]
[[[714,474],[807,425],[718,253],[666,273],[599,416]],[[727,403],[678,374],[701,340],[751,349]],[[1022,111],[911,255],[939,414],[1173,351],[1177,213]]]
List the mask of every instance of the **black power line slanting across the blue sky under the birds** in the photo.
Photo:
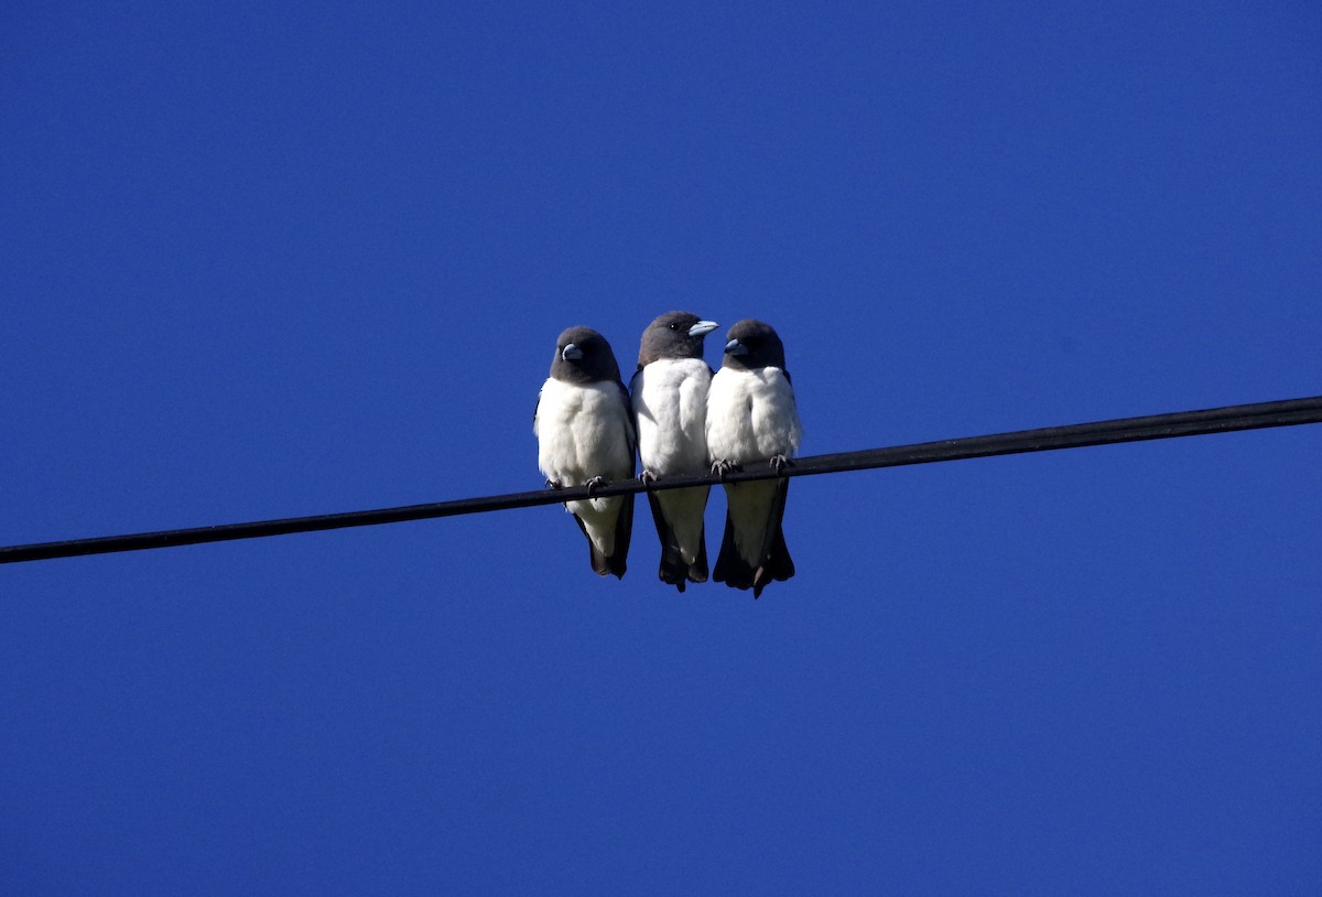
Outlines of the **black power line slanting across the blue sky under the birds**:
[[[1117,421],[1097,421],[1075,423],[1040,430],[1018,430],[985,437],[965,437],[940,442],[921,442],[890,448],[846,451],[836,455],[812,455],[798,458],[783,474],[776,474],[768,464],[750,464],[746,470],[730,474],[727,483],[772,479],[775,476],[810,476],[814,474],[838,474],[851,470],[873,470],[878,467],[903,467],[907,464],[931,464],[968,458],[990,458],[994,455],[1015,455],[1030,451],[1055,451],[1058,448],[1081,448],[1085,446],[1105,446],[1118,442],[1141,442],[1145,439],[1173,439],[1196,437],[1212,433],[1235,433],[1263,427],[1294,426],[1298,423],[1322,423],[1322,396],[1313,398],[1293,398],[1277,402],[1257,402],[1255,405],[1229,405],[1202,411],[1174,411],[1149,417],[1130,417]],[[652,486],[644,486],[636,479],[609,483],[595,490],[594,496],[632,495],[645,490],[678,490],[690,486],[715,486],[722,480],[714,475],[666,476]],[[20,561],[45,561],[57,557],[77,557],[82,554],[108,554],[112,552],[135,552],[147,548],[172,548],[176,545],[198,545],[202,542],[222,542],[234,538],[259,538],[263,536],[284,536],[346,527],[371,527],[375,524],[402,523],[405,520],[426,520],[431,517],[452,517],[464,513],[485,511],[505,511],[509,508],[529,508],[538,504],[557,504],[590,497],[586,487],[567,490],[538,490],[537,492],[514,492],[455,501],[434,501],[411,504],[402,508],[379,508],[375,511],[349,511],[309,517],[288,517],[284,520],[259,520],[254,523],[219,524],[215,527],[196,527],[192,529],[165,529],[153,533],[132,533],[127,536],[100,536],[95,538],[74,538],[61,542],[38,542],[33,545],[13,545],[0,548],[0,564]]]

